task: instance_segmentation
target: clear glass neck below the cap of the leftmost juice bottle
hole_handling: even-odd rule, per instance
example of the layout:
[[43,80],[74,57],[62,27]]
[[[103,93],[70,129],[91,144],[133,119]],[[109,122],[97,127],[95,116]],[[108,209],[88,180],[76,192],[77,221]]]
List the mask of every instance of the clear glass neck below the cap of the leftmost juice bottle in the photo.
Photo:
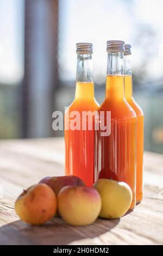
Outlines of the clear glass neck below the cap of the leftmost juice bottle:
[[76,99],[94,99],[92,54],[78,54],[76,76]]

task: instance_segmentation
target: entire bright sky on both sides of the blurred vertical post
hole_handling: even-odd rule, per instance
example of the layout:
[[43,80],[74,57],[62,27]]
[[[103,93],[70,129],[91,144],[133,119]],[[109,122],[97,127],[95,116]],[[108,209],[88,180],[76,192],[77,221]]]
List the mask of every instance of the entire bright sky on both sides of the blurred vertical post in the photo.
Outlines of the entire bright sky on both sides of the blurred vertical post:
[[[23,77],[24,0],[0,2],[0,83]],[[133,46],[133,69],[146,63],[149,80],[163,71],[162,0],[60,0],[59,65],[62,80],[76,77],[76,42],[92,42],[95,80],[105,81],[106,40]],[[142,29],[144,28],[144,30]],[[150,29],[153,36],[148,36]]]

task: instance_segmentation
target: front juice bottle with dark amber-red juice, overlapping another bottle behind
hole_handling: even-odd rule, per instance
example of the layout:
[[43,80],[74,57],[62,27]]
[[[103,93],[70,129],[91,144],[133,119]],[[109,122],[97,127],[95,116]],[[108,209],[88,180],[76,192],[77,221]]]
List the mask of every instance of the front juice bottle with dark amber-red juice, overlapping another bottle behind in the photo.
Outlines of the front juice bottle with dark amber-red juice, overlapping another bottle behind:
[[[110,126],[106,136],[95,131],[95,180],[100,178],[126,182],[132,192],[135,207],[135,143],[136,114],[124,96],[123,41],[107,41],[108,65],[105,100],[97,112],[104,113],[105,126]],[[110,111],[108,120],[106,113]],[[103,119],[96,118],[96,123]]]

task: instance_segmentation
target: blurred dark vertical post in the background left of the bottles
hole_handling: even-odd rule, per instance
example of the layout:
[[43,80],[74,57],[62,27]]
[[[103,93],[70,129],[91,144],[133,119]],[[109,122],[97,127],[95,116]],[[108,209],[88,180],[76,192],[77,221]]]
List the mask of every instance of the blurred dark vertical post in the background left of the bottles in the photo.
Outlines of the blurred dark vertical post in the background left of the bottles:
[[52,131],[58,83],[58,0],[26,0],[24,19],[23,137]]

